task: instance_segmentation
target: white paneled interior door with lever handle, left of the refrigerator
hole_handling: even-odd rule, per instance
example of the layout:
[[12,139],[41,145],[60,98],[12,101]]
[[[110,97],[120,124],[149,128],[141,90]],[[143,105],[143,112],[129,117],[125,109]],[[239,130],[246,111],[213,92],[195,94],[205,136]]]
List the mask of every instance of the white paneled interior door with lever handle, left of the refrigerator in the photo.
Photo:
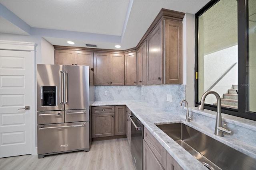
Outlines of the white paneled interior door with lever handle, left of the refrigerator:
[[[0,158],[32,153],[30,51],[0,50]],[[31,81],[32,80],[32,81]]]

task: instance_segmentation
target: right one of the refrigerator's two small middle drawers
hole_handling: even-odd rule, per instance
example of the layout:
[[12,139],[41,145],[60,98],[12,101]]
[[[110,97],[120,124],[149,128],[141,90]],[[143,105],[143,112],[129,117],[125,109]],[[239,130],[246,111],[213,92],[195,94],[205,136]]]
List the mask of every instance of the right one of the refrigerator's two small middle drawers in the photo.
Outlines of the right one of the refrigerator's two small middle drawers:
[[89,121],[89,109],[65,111],[65,123],[76,121]]

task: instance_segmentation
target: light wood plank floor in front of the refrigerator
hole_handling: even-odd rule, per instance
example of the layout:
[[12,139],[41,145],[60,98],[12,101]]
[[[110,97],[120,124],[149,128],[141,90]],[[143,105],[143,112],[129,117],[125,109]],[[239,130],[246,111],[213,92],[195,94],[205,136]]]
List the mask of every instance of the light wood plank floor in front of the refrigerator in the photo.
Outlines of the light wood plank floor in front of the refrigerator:
[[0,158],[0,170],[134,170],[126,138],[92,142],[89,152],[78,151],[37,158]]

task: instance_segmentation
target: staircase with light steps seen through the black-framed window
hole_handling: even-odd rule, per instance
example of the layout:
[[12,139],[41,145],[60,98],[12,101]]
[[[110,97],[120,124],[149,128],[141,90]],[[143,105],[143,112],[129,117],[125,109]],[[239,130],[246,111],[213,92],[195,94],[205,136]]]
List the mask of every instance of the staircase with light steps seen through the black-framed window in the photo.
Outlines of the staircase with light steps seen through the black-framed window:
[[[238,101],[237,89],[238,89],[238,85],[233,85],[232,89],[228,89],[228,93],[223,94],[223,98],[221,99],[222,107],[237,109],[237,101]],[[214,103],[213,105],[217,106],[217,103]]]

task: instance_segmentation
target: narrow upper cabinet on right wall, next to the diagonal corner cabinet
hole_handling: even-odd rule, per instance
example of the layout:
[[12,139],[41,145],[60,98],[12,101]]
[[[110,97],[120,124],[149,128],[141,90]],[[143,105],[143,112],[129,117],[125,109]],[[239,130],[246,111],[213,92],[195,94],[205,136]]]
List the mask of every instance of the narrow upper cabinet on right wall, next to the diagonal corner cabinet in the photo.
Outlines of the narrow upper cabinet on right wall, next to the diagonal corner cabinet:
[[137,52],[137,85],[147,84],[147,41],[145,41]]

